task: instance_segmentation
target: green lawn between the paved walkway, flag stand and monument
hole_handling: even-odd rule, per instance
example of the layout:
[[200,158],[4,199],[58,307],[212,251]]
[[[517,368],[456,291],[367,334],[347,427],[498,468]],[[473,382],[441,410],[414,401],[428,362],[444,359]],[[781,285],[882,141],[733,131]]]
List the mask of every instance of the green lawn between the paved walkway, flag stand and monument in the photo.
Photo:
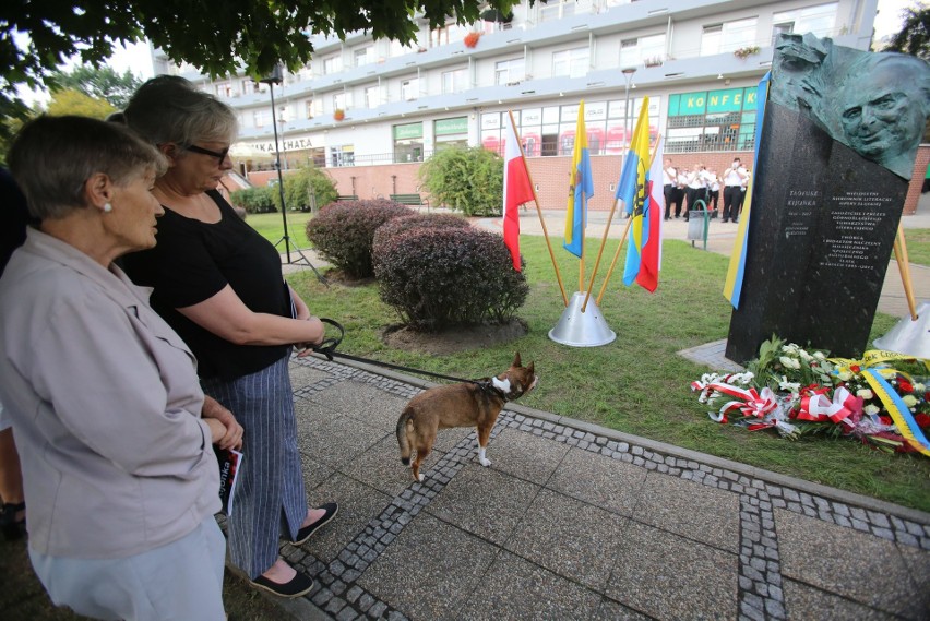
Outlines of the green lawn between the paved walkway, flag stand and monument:
[[[571,296],[579,289],[579,261],[561,249],[560,240],[553,238],[552,244]],[[588,240],[586,246],[588,275],[598,244],[599,240]],[[616,248],[617,240],[608,240],[595,297]],[[536,361],[540,378],[537,390],[521,401],[525,406],[930,511],[927,457],[885,454],[848,439],[782,440],[774,433],[748,433],[707,418],[706,407],[698,403],[690,383],[708,369],[676,353],[727,337],[730,307],[722,295],[726,256],[682,241],[666,241],[655,295],[622,285],[621,256],[599,304],[617,338],[603,347],[575,348],[548,337],[564,306],[544,238],[523,237],[521,250],[527,263],[530,294],[517,315],[527,323],[528,333],[506,343],[448,356],[385,345],[381,334],[398,318],[380,301],[377,284],[333,284],[326,288],[311,272],[290,275],[288,280],[314,314],[335,319],[345,326],[346,337],[339,349],[347,354],[460,378],[479,378],[503,370],[518,350],[524,361]],[[877,315],[871,338],[895,323],[895,318]]]

